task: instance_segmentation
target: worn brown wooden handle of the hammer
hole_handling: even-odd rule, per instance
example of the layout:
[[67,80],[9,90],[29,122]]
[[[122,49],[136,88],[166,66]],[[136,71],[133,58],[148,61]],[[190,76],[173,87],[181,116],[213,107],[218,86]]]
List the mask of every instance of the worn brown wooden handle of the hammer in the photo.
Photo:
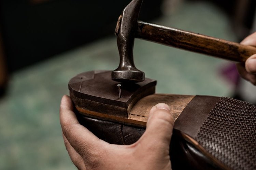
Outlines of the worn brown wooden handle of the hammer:
[[245,46],[223,39],[142,21],[138,21],[135,36],[136,38],[208,54],[235,62],[245,62],[248,57],[256,54],[256,48],[253,46]]

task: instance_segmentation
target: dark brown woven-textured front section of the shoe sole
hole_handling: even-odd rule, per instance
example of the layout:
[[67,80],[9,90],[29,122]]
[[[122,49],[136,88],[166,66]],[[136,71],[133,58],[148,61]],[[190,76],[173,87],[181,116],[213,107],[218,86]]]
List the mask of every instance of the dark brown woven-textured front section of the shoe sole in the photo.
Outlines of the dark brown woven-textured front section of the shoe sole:
[[196,140],[231,169],[256,169],[256,106],[221,98]]

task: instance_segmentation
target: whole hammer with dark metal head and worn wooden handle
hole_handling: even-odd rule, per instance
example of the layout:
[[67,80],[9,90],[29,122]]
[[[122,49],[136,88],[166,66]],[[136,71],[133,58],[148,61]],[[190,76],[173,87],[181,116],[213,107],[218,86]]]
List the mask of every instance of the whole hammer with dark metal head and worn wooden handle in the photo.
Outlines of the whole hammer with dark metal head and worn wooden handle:
[[145,79],[145,73],[138,70],[133,62],[134,38],[242,63],[256,53],[256,48],[252,46],[138,21],[142,2],[143,0],[132,0],[118,18],[115,34],[120,63],[112,71],[114,81],[142,82]]

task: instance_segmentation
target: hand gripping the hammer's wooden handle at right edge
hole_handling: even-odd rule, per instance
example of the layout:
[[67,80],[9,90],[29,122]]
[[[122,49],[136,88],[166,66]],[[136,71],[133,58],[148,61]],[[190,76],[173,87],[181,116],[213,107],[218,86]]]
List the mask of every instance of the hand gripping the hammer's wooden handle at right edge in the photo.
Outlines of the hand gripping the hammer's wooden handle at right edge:
[[[240,44],[256,47],[256,32],[246,37]],[[256,85],[256,54],[249,57],[245,65],[237,64],[237,70],[242,78]]]

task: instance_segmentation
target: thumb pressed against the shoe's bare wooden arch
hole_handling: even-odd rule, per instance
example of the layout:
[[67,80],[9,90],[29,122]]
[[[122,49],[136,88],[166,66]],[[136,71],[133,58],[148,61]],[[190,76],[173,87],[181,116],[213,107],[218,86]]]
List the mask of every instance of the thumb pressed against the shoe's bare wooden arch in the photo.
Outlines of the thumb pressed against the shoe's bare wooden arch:
[[173,125],[173,114],[167,104],[159,103],[153,106],[148,116],[146,131],[140,142],[149,147],[169,151]]

